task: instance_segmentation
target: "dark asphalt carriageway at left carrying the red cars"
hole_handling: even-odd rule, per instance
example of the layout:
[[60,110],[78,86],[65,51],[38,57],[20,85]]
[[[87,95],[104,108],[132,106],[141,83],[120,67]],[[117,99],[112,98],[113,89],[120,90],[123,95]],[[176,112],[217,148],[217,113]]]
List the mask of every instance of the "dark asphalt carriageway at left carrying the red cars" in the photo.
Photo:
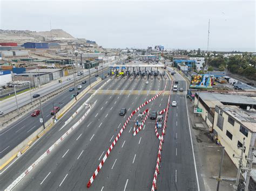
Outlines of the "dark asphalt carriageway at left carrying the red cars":
[[[106,71],[104,73],[107,73]],[[96,81],[96,77],[91,76],[91,83]],[[79,83],[80,84],[80,83]],[[78,86],[78,84],[76,84]],[[89,80],[85,84],[82,84],[82,91],[87,86],[89,86]],[[76,89],[77,90],[77,89]],[[53,110],[52,102],[55,102],[55,107],[64,107],[65,104],[70,102],[74,97],[75,91],[66,90],[63,93],[51,98],[49,101],[42,104],[44,121],[52,118],[50,111]],[[39,107],[36,108],[41,110]],[[36,110],[35,109],[35,110]],[[21,119],[7,126],[4,130],[0,131],[0,158],[2,158],[6,153],[10,152],[14,147],[21,143],[24,139],[29,137],[33,132],[35,132],[42,124],[39,122],[41,115],[36,117],[31,116],[31,112],[24,115]]]

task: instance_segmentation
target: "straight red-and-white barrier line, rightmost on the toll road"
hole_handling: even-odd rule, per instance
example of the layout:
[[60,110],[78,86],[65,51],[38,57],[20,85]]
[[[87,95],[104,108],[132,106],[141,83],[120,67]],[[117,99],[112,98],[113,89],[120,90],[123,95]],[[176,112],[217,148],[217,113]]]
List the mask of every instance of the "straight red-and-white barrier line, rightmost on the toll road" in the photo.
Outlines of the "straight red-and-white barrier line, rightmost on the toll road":
[[[173,85],[173,81],[172,81],[172,84],[171,84],[171,89],[172,89],[172,85]],[[168,102],[167,102],[167,107],[166,107],[166,110],[165,110],[166,114],[165,114],[165,119],[164,119],[164,128],[163,128],[163,132],[162,132],[159,147],[158,147],[157,165],[156,165],[156,170],[154,171],[151,191],[157,190],[157,175],[159,174],[159,164],[161,162],[161,151],[163,150],[165,128],[167,126],[166,123],[167,123],[168,112],[169,112],[169,108],[170,108],[171,89],[170,89],[170,94],[169,94],[169,98],[168,98]],[[162,112],[162,111],[160,111],[160,112]]]

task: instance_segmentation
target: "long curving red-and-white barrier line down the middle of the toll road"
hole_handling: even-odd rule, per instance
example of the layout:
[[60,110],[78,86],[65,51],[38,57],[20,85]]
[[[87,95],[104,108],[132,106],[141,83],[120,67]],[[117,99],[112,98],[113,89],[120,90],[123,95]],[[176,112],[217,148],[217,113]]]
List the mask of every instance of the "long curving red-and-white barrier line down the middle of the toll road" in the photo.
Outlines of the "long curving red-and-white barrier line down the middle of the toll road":
[[[166,84],[167,81],[165,83],[165,88],[166,88]],[[132,118],[132,116],[134,114],[136,114],[136,112],[138,112],[142,107],[144,107],[146,104],[150,103],[151,101],[155,100],[158,96],[160,96],[161,94],[164,93],[165,88],[163,91],[160,91],[157,95],[155,95],[154,97],[152,97],[150,100],[144,102],[142,105],[140,105],[136,110],[134,110],[131,115],[126,119],[122,129],[119,131],[117,137],[114,139],[113,143],[110,145],[109,149],[107,150],[106,154],[104,155],[102,161],[100,162],[100,164],[98,165],[98,167],[96,168],[95,172],[92,174],[91,178],[89,179],[89,181],[87,182],[87,188],[90,188],[93,180],[95,180],[97,174],[99,173],[100,169],[102,169],[104,162],[106,161],[107,157],[109,157],[110,152],[112,151],[114,145],[116,145],[118,139],[120,138],[120,136],[122,135],[122,133],[124,132],[124,129],[126,128],[128,122],[130,121],[130,119]]]

